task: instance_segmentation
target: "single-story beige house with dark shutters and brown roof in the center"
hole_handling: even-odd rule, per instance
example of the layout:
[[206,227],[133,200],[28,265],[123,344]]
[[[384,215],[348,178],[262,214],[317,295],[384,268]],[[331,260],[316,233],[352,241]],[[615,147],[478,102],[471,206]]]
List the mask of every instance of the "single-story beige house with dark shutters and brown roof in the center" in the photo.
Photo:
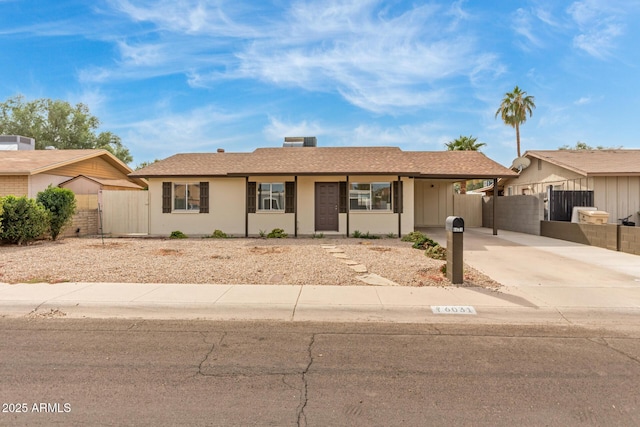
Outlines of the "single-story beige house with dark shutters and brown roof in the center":
[[129,176],[149,181],[151,235],[403,235],[444,225],[454,182],[517,173],[476,151],[285,146],[176,154]]

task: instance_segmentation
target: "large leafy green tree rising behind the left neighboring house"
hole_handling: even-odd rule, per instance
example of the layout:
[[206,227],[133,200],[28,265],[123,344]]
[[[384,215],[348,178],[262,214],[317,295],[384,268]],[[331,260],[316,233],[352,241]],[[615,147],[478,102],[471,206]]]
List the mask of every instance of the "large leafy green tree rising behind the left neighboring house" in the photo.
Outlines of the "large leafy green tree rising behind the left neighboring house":
[[22,135],[36,140],[36,149],[52,146],[60,150],[103,148],[124,163],[133,157],[111,132],[96,133],[100,120],[89,107],[75,107],[66,101],[36,99],[26,101],[17,95],[0,103],[0,134]]

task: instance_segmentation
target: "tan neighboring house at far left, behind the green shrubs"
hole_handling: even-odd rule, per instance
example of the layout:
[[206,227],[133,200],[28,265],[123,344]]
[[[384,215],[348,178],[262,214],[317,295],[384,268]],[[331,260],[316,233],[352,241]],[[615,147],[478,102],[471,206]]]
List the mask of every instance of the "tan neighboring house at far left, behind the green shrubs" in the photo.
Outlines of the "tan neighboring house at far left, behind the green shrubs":
[[127,176],[131,172],[106,150],[0,150],[0,197],[35,198],[49,185],[96,195],[101,189],[146,188],[145,180]]

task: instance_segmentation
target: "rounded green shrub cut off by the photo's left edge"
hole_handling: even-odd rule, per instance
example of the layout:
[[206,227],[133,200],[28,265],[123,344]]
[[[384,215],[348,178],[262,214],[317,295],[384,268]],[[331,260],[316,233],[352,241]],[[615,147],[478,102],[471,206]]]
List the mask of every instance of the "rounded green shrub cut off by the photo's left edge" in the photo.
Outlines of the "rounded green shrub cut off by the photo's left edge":
[[2,200],[2,209],[2,240],[21,245],[36,240],[49,231],[49,211],[34,199],[6,196]]

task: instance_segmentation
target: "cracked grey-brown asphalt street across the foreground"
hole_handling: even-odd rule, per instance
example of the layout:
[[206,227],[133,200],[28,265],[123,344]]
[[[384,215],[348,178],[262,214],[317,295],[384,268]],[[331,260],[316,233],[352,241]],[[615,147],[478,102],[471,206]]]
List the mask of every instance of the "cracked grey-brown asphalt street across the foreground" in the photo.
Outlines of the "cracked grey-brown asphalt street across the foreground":
[[640,425],[640,331],[0,319],[0,425]]

